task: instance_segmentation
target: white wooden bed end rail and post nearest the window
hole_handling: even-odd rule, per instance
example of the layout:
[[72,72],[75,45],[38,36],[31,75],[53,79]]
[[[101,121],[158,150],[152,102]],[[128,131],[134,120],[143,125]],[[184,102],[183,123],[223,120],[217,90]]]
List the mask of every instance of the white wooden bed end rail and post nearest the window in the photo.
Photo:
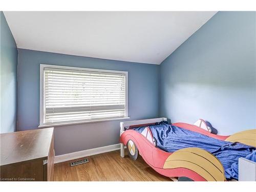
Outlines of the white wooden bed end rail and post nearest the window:
[[[147,123],[156,123],[161,121],[167,121],[166,117],[161,118],[154,118],[154,119],[142,119],[142,120],[134,120],[134,121],[124,121],[120,122],[120,136],[124,132],[124,127],[132,126],[132,125],[140,125],[140,124],[147,124]],[[124,157],[124,144],[120,143],[120,155]]]

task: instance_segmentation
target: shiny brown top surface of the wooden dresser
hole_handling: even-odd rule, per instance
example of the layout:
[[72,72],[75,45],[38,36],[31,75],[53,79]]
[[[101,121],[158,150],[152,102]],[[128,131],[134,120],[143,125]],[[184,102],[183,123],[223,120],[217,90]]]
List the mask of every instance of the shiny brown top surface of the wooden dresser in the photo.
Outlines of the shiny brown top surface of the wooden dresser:
[[0,165],[47,159],[53,127],[0,134]]

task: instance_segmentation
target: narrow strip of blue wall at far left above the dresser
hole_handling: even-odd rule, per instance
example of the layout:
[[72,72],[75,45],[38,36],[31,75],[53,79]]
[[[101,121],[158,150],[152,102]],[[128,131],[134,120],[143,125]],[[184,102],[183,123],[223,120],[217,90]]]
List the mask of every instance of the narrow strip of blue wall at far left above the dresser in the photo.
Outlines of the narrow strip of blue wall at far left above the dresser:
[[0,133],[7,133],[16,131],[17,125],[17,47],[2,11],[0,17]]

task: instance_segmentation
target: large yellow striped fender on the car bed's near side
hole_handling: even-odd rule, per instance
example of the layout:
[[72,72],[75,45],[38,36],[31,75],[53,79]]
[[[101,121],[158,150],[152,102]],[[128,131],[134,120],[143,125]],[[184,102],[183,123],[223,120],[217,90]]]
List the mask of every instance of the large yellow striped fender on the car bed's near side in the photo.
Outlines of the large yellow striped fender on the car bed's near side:
[[198,147],[183,148],[174,152],[165,160],[163,168],[187,168],[207,181],[226,181],[221,162]]

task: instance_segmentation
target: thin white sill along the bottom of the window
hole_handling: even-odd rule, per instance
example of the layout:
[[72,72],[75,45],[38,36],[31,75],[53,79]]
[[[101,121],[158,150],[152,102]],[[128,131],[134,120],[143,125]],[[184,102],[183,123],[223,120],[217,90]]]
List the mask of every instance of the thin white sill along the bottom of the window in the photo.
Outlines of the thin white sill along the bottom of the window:
[[73,124],[83,124],[83,123],[92,123],[92,122],[102,122],[102,121],[115,121],[121,119],[130,119],[130,117],[120,117],[120,118],[112,118],[112,119],[95,119],[89,121],[77,121],[77,122],[65,122],[65,123],[52,123],[52,124],[42,124],[39,125],[38,128],[46,128],[46,127],[54,127],[54,126],[65,126],[65,125],[73,125]]

